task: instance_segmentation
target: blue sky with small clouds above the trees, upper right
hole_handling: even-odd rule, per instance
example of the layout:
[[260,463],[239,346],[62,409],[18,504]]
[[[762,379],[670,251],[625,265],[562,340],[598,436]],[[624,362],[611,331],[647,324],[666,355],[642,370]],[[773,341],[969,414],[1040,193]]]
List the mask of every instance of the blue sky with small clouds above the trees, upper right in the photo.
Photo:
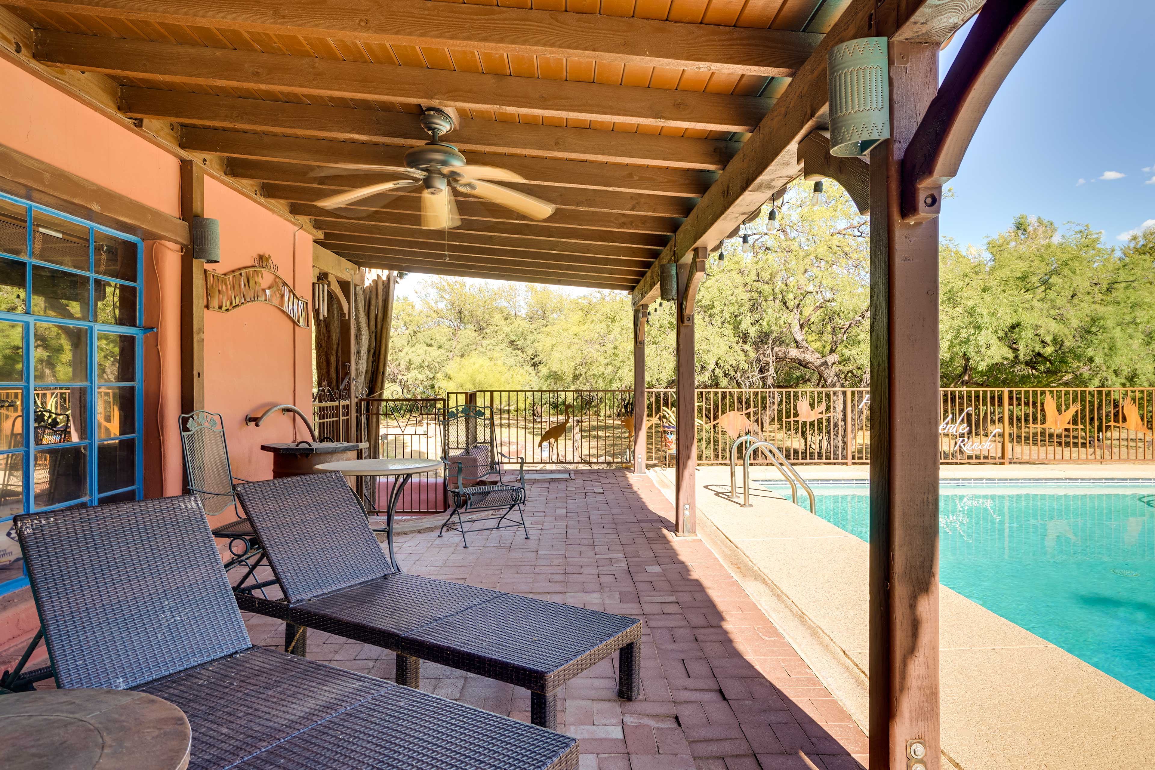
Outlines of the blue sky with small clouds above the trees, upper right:
[[[1155,224],[1153,30],[1152,0],[1067,0],[979,124],[949,184],[941,234],[982,246],[1030,214],[1090,224],[1119,245],[1120,233]],[[961,37],[944,52],[942,73]]]

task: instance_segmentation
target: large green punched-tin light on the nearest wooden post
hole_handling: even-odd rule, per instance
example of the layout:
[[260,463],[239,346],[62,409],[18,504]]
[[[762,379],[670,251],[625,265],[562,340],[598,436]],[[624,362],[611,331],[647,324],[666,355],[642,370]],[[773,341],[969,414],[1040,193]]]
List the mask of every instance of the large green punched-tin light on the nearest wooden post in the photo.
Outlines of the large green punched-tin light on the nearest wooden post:
[[830,155],[856,157],[891,139],[887,39],[862,37],[826,55],[830,96]]

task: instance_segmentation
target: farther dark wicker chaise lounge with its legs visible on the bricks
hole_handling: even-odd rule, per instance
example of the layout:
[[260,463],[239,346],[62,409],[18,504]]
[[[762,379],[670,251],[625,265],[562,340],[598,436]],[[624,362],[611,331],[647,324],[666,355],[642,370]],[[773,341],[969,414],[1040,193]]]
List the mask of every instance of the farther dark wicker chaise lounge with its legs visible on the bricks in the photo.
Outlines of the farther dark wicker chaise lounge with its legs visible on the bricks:
[[340,473],[237,489],[285,599],[237,591],[241,610],[397,652],[397,683],[420,661],[530,690],[535,725],[557,725],[557,690],[620,650],[618,696],[640,696],[641,622],[393,569]]

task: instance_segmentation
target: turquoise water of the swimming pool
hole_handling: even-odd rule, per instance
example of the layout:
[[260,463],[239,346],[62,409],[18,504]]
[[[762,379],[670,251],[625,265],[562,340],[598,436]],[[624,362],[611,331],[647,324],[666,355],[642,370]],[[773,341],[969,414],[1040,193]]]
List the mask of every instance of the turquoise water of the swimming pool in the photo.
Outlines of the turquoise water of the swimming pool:
[[[866,485],[812,487],[869,538]],[[944,585],[1155,697],[1155,483],[944,480],[939,537]]]

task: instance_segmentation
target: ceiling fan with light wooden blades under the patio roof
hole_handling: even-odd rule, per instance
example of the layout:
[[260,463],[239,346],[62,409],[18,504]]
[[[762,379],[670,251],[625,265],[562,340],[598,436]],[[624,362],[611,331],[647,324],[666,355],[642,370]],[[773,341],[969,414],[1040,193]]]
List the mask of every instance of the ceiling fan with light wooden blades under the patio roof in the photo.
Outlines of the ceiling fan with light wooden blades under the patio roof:
[[405,167],[365,166],[386,173],[405,174],[409,179],[378,182],[345,193],[330,195],[316,201],[322,209],[337,209],[357,201],[380,195],[382,193],[401,194],[410,187],[422,186],[422,227],[441,230],[456,227],[461,224],[457,216],[457,204],[453,192],[476,195],[492,201],[532,219],[544,219],[553,214],[554,205],[526,193],[494,185],[497,181],[523,181],[522,177],[506,169],[495,166],[478,166],[465,163],[465,157],[452,144],[446,144],[441,137],[453,130],[453,117],[442,111],[426,109],[420,118],[422,128],[433,137],[433,141],[413,147],[405,151]]

